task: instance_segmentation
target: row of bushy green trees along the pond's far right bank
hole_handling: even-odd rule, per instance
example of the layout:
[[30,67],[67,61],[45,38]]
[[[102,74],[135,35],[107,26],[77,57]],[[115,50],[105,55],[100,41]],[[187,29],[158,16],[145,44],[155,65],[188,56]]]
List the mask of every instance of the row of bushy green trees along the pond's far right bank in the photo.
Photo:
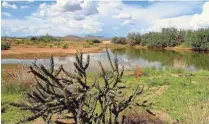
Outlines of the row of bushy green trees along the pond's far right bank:
[[149,32],[143,35],[132,32],[127,37],[113,37],[111,42],[131,46],[141,45],[150,48],[183,46],[193,50],[208,50],[209,28],[199,30],[163,28],[161,32]]

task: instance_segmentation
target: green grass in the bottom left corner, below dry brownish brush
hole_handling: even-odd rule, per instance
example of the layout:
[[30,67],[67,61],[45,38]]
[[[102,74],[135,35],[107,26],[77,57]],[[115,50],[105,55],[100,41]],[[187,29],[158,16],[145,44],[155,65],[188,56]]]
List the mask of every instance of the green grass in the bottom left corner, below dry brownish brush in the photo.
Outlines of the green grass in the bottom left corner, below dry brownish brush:
[[1,96],[1,110],[2,112],[2,122],[4,124],[13,124],[24,117],[30,115],[30,112],[21,111],[16,107],[10,106],[11,102],[22,102],[24,98],[24,93],[28,90],[28,87],[20,84],[4,84],[2,87],[2,96]]

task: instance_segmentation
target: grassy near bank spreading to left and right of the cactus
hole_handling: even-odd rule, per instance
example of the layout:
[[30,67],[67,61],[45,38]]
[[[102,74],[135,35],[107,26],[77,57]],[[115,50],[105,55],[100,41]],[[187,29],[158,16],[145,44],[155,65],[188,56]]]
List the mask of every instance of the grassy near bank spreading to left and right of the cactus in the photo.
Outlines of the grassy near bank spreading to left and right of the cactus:
[[[17,76],[7,75],[6,66],[2,66],[2,120],[5,123],[14,123],[17,120],[27,117],[30,113],[19,111],[17,108],[8,105],[9,102],[24,101],[24,93],[28,91],[33,80],[30,75],[20,75],[19,72],[26,71],[22,66],[16,69]],[[13,67],[14,69],[15,67]],[[15,69],[14,69],[15,70]],[[9,73],[14,73],[9,69]],[[27,77],[27,78],[21,78]],[[94,77],[89,73],[89,80]],[[18,80],[17,80],[18,79]],[[27,80],[26,80],[27,79]],[[181,69],[155,69],[135,68],[125,72],[124,80],[126,85],[134,87],[142,84],[146,92],[137,100],[143,99],[152,103],[150,108],[164,122],[181,122],[183,124],[209,123],[209,72],[200,70],[195,73]],[[127,89],[127,95],[131,93]],[[138,108],[127,110],[125,113],[138,112]]]

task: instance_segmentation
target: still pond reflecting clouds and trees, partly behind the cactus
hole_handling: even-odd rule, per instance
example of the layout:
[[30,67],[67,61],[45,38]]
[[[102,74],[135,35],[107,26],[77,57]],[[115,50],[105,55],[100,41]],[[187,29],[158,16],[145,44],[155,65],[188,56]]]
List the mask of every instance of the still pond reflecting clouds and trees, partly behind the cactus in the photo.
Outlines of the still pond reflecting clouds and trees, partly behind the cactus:
[[[109,49],[112,58],[117,55],[120,66],[123,65],[125,69],[133,69],[136,66],[142,68],[146,67],[168,67],[168,68],[182,68],[188,71],[209,70],[209,53],[199,52],[175,52],[168,50],[150,50],[150,49],[134,49],[134,48],[120,48]],[[106,52],[90,53],[90,66],[88,71],[99,71],[98,61],[101,61],[104,67],[108,68],[108,60]],[[84,54],[84,60],[87,54]],[[74,56],[54,57],[56,67],[63,64],[69,71],[73,70]],[[30,65],[34,59],[2,59],[2,64],[25,64]],[[38,64],[45,66],[49,65],[49,59],[37,59]]]

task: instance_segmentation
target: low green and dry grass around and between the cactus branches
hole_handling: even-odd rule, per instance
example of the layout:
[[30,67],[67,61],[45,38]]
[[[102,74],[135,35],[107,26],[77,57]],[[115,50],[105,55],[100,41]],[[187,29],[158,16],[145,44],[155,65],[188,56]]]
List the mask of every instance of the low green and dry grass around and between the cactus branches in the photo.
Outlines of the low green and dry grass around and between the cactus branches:
[[[78,58],[80,60],[80,56],[78,56]],[[83,63],[83,66],[85,64],[86,63]],[[114,65],[114,63],[112,64]],[[43,69],[43,66],[41,67]],[[5,67],[2,66],[2,68],[4,69]],[[36,70],[35,66],[33,68]],[[12,73],[11,71],[6,72],[6,70],[3,70],[3,72],[5,73],[3,73],[2,75],[2,122],[6,124],[16,123],[19,120],[24,121],[24,119],[27,119],[28,117],[31,117],[34,115],[34,113],[31,113],[30,111],[21,111],[18,108],[9,105],[9,103],[11,102],[21,103],[21,105],[22,104],[27,104],[27,105],[36,104],[36,102],[33,102],[32,104],[30,104],[30,102],[26,102],[28,101],[28,97],[25,97],[24,95],[26,93],[30,93],[33,96],[35,95],[33,94],[33,91],[36,91],[36,88],[33,87],[32,90],[30,88],[30,86],[34,85],[35,83],[34,80],[31,80],[33,78],[33,75],[31,76],[31,75],[28,75],[28,73],[21,73],[20,71],[23,71],[23,72],[28,71],[27,69],[21,66],[18,67],[18,70],[19,70],[18,72],[14,70],[12,71]],[[49,68],[46,68],[46,70],[48,72],[50,71]],[[54,70],[54,73],[56,72],[57,70]],[[109,70],[105,72],[112,72],[112,71]],[[45,72],[42,71],[41,74],[45,75]],[[135,98],[134,103],[139,103],[140,101],[144,101],[147,105],[152,103],[152,105],[148,109],[148,110],[151,110],[152,114],[149,114],[148,112],[146,112],[145,111],[146,109],[144,110],[144,108],[132,106],[131,108],[127,108],[121,113],[119,121],[123,120],[124,123],[150,122],[150,123],[159,123],[159,124],[161,123],[183,123],[183,124],[196,124],[196,123],[207,124],[209,123],[209,118],[208,118],[209,116],[209,111],[208,111],[208,108],[209,108],[209,104],[208,104],[209,103],[208,101],[209,100],[209,96],[208,96],[209,72],[208,71],[199,70],[197,72],[189,72],[189,71],[184,71],[182,69],[169,69],[169,68],[158,68],[158,69],[143,68],[142,69],[140,68],[140,66],[136,65],[133,67],[133,70],[126,70],[124,71],[123,74],[124,74],[123,80],[125,83],[121,83],[121,85],[126,86],[126,88],[123,89],[126,91],[125,96],[123,96],[123,98],[127,100],[128,97],[133,93],[132,88],[134,87],[136,88],[138,85],[149,87],[149,90],[145,90],[146,92],[141,94],[140,97]],[[16,75],[16,76],[12,76],[12,75]],[[69,80],[68,76],[64,76],[64,75],[65,74],[63,74],[62,76],[58,78]],[[92,86],[94,84],[92,82],[95,81],[94,77],[97,77],[97,82],[100,82],[100,84],[95,85],[95,86],[98,87],[101,85],[100,88],[103,88],[105,86],[105,84],[103,84],[104,83],[103,76],[102,75],[100,75],[100,77],[98,76],[99,75],[91,74],[90,72],[87,72],[86,78],[87,78],[88,86]],[[25,77],[25,78],[22,78],[22,77]],[[41,79],[38,79],[38,81],[41,83],[41,85],[44,86],[45,84],[44,81],[41,81]],[[73,81],[73,84],[74,83],[77,84],[76,79],[72,78],[72,81]],[[24,82],[24,83],[21,83],[21,82]],[[27,82],[34,82],[34,83],[27,83]],[[121,85],[118,85],[118,86],[121,86]],[[78,86],[80,87],[79,84]],[[97,90],[94,89],[93,92],[94,91],[97,91]],[[84,91],[80,91],[80,92],[83,93]],[[50,103],[50,105],[52,105],[52,108],[53,108],[53,105],[55,105],[54,104],[55,101]],[[85,108],[84,110],[88,110],[88,107]],[[101,110],[100,107],[98,107],[96,108],[95,112],[99,114],[99,112],[101,112],[100,110]],[[66,115],[64,116],[66,118],[73,117],[68,114],[64,114],[64,115]],[[89,116],[86,115],[86,117],[89,117]],[[107,114],[107,117],[109,117],[108,114]],[[54,118],[54,116],[52,118]],[[40,118],[38,118],[38,120],[40,120]],[[64,120],[66,119],[59,118],[59,121],[64,121]]]

